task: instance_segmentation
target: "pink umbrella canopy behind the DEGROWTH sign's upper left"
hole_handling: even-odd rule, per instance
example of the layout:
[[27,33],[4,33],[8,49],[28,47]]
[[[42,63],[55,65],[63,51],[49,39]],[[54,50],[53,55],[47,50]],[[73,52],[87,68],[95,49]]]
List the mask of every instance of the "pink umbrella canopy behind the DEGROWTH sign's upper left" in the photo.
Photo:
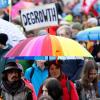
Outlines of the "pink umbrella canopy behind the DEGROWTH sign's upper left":
[[26,2],[26,1],[19,1],[18,3],[16,3],[12,9],[11,9],[11,16],[12,19],[15,19],[18,15],[19,15],[19,11],[21,9],[27,9],[29,7],[33,7],[33,3],[31,2]]

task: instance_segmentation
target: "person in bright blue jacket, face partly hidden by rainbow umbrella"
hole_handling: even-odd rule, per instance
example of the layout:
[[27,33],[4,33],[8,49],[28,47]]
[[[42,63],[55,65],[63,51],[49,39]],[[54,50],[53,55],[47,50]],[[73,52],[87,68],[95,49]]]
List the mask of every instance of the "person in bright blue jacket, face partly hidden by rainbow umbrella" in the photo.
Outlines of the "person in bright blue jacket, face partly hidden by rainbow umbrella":
[[32,67],[26,69],[25,71],[25,78],[29,80],[34,86],[36,95],[38,95],[40,86],[48,77],[48,70],[45,67],[44,63],[45,60],[36,60],[36,62],[33,63]]

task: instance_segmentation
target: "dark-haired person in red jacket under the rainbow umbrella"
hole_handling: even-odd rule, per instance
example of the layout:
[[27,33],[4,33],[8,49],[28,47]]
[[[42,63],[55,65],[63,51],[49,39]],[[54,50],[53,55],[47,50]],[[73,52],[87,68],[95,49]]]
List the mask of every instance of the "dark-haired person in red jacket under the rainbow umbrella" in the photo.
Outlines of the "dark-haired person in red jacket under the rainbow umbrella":
[[[68,77],[61,71],[61,62],[55,60],[48,62],[48,73],[49,77],[53,77],[59,80],[63,95],[61,100],[79,100],[78,93],[74,86],[74,83],[71,80],[68,80]],[[69,84],[69,85],[68,85]],[[38,97],[42,94],[42,86],[40,88]]]

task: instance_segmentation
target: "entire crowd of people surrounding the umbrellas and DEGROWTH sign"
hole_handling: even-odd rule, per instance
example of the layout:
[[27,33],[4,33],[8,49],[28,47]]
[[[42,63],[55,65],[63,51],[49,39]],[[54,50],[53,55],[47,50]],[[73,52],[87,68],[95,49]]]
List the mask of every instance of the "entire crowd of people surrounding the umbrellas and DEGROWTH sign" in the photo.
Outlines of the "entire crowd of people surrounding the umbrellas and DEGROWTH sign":
[[[24,0],[13,0],[12,5]],[[3,10],[1,18],[23,28],[26,38],[40,35],[56,35],[75,41],[78,32],[100,25],[99,15],[75,15],[72,7],[80,0],[64,4],[62,0],[25,0],[35,6],[55,3],[58,13],[58,25],[43,29],[25,31],[21,19]],[[19,15],[18,15],[19,16]],[[6,33],[0,33],[0,100],[96,100],[100,97],[98,75],[100,67],[100,40],[78,41],[93,58],[63,57],[64,60],[16,60],[4,55],[12,48],[7,43]]]

